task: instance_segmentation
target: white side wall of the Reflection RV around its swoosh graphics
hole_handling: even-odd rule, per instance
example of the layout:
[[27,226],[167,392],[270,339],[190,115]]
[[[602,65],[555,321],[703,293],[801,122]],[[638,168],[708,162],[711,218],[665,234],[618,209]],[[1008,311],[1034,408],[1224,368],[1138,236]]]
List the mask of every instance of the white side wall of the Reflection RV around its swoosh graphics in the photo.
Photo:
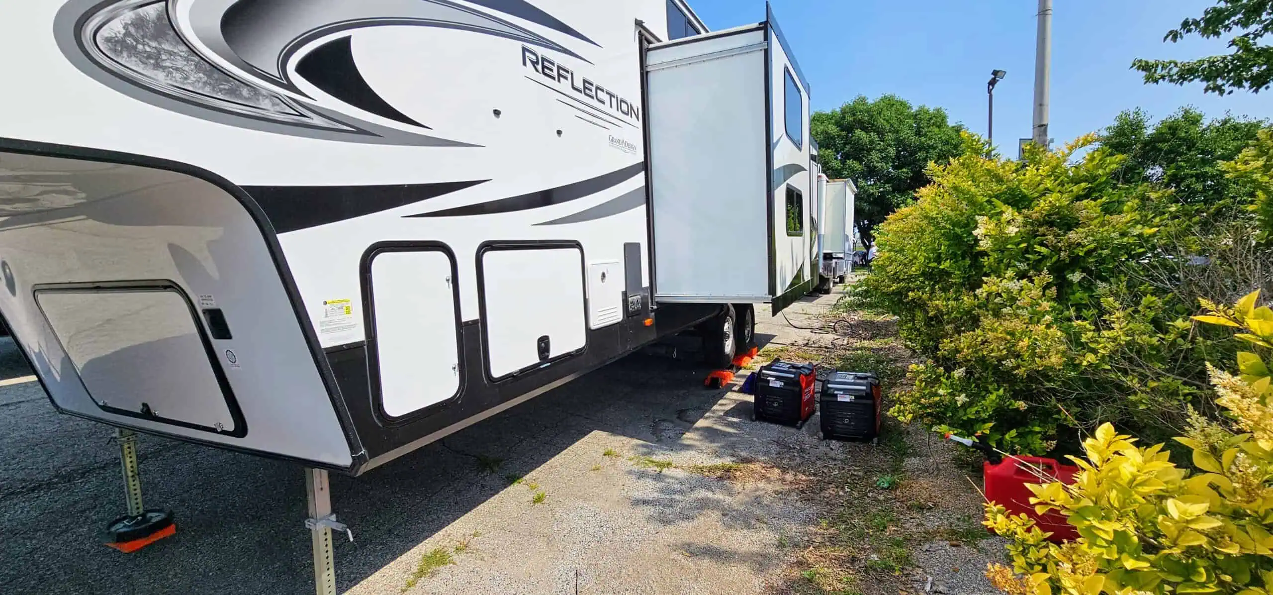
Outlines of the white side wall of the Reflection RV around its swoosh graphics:
[[[542,224],[643,189],[640,172],[593,196],[537,209],[533,219],[524,211],[405,218],[560,187],[643,161],[642,121],[624,120],[607,110],[620,124],[607,124],[611,129],[606,130],[577,117],[582,116],[577,103],[545,89],[552,85],[573,93],[569,80],[554,84],[532,70],[523,61],[519,41],[448,28],[355,29],[353,54],[368,83],[404,113],[429,126],[430,135],[472,147],[341,141],[228,126],[107,88],[64,55],[59,42],[74,39],[59,39],[52,31],[64,5],[88,11],[94,4],[92,0],[0,3],[5,79],[28,82],[23,83],[27,90],[22,93],[0,93],[0,113],[22,115],[0,120],[0,136],[171,159],[211,171],[239,186],[393,186],[485,180],[425,203],[280,234],[316,327],[322,321],[325,301],[354,301],[355,325],[321,335],[323,347],[367,338],[363,305],[358,299],[359,259],[367,246],[378,241],[428,238],[449,246],[458,260],[463,320],[479,317],[475,255],[484,240],[578,240],[589,261],[622,260],[624,242],[645,242],[647,218],[640,208],[584,224]],[[171,10],[182,17],[215,4],[216,0],[172,0]],[[541,54],[569,68],[577,75],[575,84],[582,85],[586,76],[640,103],[634,23],[639,19],[656,32],[666,32],[666,0],[536,0],[535,5],[587,32],[601,48],[579,39],[561,41],[593,64],[569,56],[556,60],[559,54],[537,46],[531,46],[532,50],[542,50]],[[186,23],[181,18],[177,22]],[[185,24],[178,28],[193,46],[202,47]],[[298,54],[342,34],[349,32],[308,41]],[[239,65],[219,66],[253,79]],[[332,113],[350,112],[348,106],[295,75],[294,65],[290,73],[304,96],[278,87],[272,90],[288,98],[308,96],[307,106]],[[603,108],[600,103],[596,107]],[[640,107],[644,118],[647,110]],[[502,116],[494,117],[494,110],[500,110]],[[384,129],[411,129],[372,113],[356,115]],[[648,264],[642,275],[648,284]]]

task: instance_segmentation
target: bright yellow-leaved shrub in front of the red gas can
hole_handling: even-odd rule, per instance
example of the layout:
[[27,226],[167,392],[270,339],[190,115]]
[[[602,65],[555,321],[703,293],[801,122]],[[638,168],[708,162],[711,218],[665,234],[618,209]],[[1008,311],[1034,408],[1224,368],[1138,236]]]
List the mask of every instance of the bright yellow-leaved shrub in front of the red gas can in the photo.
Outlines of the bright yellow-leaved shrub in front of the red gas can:
[[1031,487],[1039,512],[1059,510],[1080,539],[1045,541],[1025,515],[987,505],[985,525],[1009,539],[1011,570],[987,576],[1012,595],[1273,594],[1273,311],[1259,292],[1195,320],[1235,327],[1253,350],[1239,373],[1211,369],[1223,422],[1195,417],[1186,437],[1197,473],[1162,445],[1141,448],[1104,424],[1083,443],[1072,485]]

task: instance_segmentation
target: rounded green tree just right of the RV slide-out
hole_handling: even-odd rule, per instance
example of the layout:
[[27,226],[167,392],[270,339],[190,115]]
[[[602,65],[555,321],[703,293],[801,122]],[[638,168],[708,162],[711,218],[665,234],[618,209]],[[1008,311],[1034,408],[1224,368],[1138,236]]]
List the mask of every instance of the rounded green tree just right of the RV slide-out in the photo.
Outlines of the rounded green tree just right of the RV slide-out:
[[913,107],[891,94],[859,96],[816,112],[811,130],[826,176],[857,185],[857,224],[866,238],[929,183],[929,163],[943,164],[962,150],[962,126],[950,124],[943,110]]

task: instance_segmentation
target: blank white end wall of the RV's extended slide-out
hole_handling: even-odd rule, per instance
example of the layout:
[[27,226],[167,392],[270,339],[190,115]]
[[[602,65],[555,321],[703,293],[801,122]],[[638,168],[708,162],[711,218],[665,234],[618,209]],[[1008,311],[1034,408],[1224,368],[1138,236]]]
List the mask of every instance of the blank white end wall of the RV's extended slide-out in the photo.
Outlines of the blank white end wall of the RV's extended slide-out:
[[658,301],[771,297],[765,48],[752,27],[647,52]]

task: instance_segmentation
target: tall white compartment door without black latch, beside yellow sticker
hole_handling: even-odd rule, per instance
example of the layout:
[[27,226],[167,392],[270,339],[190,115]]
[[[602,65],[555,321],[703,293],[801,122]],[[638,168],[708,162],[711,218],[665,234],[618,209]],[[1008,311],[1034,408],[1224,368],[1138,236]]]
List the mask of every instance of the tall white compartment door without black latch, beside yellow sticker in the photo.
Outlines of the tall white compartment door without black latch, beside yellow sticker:
[[460,343],[451,256],[439,250],[372,256],[374,386],[379,413],[407,417],[460,392]]

